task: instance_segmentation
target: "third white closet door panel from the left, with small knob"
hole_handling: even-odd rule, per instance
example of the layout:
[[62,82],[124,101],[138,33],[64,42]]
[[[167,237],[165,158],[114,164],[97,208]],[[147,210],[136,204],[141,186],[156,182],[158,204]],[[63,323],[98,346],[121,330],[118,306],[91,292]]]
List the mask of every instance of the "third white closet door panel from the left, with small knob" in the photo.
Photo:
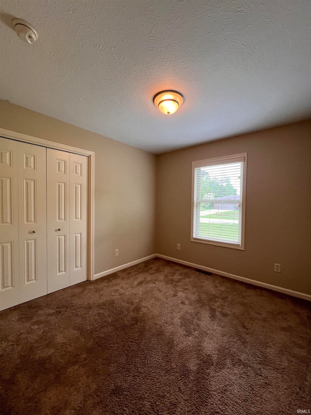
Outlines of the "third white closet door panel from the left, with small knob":
[[47,148],[48,292],[70,284],[70,153]]

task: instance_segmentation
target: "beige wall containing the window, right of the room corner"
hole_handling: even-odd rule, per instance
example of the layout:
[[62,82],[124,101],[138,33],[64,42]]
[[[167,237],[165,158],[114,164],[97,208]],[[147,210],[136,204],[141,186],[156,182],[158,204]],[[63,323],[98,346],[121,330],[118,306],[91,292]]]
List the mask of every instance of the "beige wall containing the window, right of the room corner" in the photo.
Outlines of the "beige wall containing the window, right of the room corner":
[[[243,152],[245,251],[190,242],[191,162]],[[311,121],[158,156],[155,250],[311,294]]]

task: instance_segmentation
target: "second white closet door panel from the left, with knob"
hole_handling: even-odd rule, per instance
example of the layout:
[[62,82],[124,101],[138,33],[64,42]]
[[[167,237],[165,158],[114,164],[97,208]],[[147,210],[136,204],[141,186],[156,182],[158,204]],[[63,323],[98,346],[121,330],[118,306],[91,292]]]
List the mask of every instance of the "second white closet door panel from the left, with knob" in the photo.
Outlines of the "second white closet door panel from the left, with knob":
[[47,294],[46,148],[18,143],[19,302]]

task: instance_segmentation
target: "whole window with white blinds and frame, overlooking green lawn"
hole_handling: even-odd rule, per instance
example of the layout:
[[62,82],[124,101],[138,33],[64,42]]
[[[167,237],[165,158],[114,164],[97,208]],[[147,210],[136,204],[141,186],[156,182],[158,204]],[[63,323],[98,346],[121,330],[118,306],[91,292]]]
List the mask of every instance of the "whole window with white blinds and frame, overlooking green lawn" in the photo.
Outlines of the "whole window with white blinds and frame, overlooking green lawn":
[[246,156],[192,162],[191,241],[244,249]]

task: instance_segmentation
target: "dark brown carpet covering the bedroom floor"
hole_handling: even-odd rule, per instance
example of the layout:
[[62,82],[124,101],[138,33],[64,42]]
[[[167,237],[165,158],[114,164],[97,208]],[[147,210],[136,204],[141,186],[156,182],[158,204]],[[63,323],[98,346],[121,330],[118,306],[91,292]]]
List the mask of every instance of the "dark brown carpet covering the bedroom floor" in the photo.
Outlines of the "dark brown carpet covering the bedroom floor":
[[0,322],[1,415],[311,408],[310,303],[162,259]]

